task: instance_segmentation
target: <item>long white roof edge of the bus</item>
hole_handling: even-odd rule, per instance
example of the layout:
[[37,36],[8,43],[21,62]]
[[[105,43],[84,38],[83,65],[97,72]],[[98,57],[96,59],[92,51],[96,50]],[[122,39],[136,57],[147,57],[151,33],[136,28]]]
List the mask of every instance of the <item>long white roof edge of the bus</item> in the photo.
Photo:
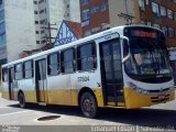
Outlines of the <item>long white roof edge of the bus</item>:
[[153,29],[153,30],[157,30],[160,32],[162,32],[161,30],[156,29],[156,28],[152,28],[152,26],[146,26],[146,25],[121,25],[121,26],[117,26],[117,28],[112,28],[112,29],[109,29],[109,30],[106,30],[106,31],[102,31],[100,33],[97,33],[97,34],[94,34],[94,35],[90,35],[90,36],[87,36],[85,38],[80,38],[78,41],[75,41],[75,42],[72,42],[72,43],[68,43],[68,44],[64,44],[64,45],[61,45],[61,46],[56,46],[54,48],[51,48],[51,50],[47,50],[47,51],[44,51],[44,52],[41,52],[41,53],[36,53],[36,54],[33,54],[31,56],[28,56],[28,57],[24,57],[24,58],[20,58],[18,61],[13,61],[11,63],[8,63],[8,64],[4,64],[2,65],[2,68],[3,67],[7,67],[7,66],[11,66],[11,65],[14,65],[14,64],[18,64],[18,63],[23,63],[23,62],[28,62],[30,59],[33,59],[33,58],[37,58],[37,57],[41,57],[41,56],[44,56],[44,55],[47,55],[47,54],[51,54],[51,53],[55,53],[57,51],[61,51],[61,50],[65,50],[65,48],[69,48],[70,46],[76,46],[78,44],[81,44],[81,43],[86,43],[86,42],[90,42],[92,40],[97,40],[99,37],[102,37],[105,35],[109,35],[109,34],[113,34],[113,33],[119,33],[120,34],[120,37],[123,36],[123,29],[124,28],[133,28],[133,26],[136,26],[136,28],[150,28],[150,29]]

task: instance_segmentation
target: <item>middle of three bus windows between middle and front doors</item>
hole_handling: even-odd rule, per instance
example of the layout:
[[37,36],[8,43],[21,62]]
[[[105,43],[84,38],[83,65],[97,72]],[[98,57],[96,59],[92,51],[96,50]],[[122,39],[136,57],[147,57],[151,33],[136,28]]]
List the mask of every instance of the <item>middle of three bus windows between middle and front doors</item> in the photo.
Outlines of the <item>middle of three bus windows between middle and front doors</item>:
[[61,58],[62,58],[62,73],[69,74],[69,73],[75,72],[75,68],[74,68],[74,58],[75,58],[74,48],[62,52]]

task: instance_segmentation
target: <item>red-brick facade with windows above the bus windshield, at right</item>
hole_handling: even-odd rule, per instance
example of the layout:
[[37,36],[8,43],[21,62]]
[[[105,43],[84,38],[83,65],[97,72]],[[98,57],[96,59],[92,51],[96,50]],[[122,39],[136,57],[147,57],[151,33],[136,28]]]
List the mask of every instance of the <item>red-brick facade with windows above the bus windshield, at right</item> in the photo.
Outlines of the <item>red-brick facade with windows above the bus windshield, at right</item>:
[[135,23],[155,26],[166,35],[168,47],[176,46],[176,0],[133,0]]

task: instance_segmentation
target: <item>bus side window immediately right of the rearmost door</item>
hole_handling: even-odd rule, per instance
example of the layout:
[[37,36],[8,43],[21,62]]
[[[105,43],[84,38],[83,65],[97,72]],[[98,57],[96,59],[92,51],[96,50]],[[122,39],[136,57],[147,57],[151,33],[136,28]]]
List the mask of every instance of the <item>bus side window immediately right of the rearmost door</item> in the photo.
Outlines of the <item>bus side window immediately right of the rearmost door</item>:
[[16,64],[14,66],[14,78],[15,78],[15,80],[19,80],[19,79],[23,78],[23,67],[22,67],[22,64]]

